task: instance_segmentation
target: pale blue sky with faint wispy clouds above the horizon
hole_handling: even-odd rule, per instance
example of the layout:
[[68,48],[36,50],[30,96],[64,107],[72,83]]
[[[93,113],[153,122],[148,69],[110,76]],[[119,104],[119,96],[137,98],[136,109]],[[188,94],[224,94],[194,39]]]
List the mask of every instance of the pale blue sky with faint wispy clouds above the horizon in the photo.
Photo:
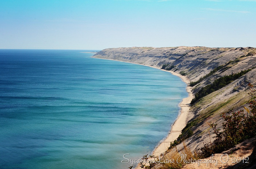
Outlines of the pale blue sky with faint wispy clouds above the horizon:
[[256,0],[0,0],[0,49],[256,47]]

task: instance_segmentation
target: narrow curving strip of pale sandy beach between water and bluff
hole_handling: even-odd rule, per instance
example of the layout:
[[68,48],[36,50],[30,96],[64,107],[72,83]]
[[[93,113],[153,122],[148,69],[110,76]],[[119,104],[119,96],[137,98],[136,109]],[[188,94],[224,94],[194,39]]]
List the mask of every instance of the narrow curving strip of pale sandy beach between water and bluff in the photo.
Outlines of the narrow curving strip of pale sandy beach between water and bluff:
[[[104,58],[96,58],[96,59],[104,59]],[[105,60],[113,60],[113,59],[105,59]],[[120,60],[114,60],[114,61],[125,62]],[[132,63],[132,62],[126,62],[126,63]],[[132,64],[137,64],[137,63],[132,63]],[[143,64],[138,64],[138,65],[143,65]],[[143,65],[143,66],[160,69],[158,67],[149,66],[149,65]],[[188,118],[188,116],[189,116],[190,102],[193,99],[192,87],[189,86],[189,83],[190,83],[189,79],[187,79],[185,76],[175,73],[174,71],[168,71],[164,69],[160,69],[160,70],[170,72],[172,75],[179,77],[181,81],[187,84],[186,90],[189,96],[186,98],[183,98],[182,101],[179,103],[179,107],[181,109],[179,111],[177,119],[171,125],[170,132],[168,133],[166,138],[163,141],[161,140],[162,142],[160,142],[157,145],[157,147],[155,147],[154,151],[152,151],[152,155],[156,157],[159,157],[162,153],[165,153],[166,150],[168,150],[168,147],[170,147],[170,142],[173,142],[179,137],[182,129],[187,125],[188,119],[191,119],[191,118]],[[139,165],[136,168],[139,168]]]

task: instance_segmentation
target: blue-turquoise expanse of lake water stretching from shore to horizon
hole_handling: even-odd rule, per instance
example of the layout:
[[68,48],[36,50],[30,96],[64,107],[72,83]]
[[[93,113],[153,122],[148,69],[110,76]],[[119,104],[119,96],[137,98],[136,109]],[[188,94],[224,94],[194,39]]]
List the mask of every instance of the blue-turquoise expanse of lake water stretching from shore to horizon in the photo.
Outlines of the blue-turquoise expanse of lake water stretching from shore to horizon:
[[166,137],[185,83],[80,52],[0,50],[0,168],[127,168]]

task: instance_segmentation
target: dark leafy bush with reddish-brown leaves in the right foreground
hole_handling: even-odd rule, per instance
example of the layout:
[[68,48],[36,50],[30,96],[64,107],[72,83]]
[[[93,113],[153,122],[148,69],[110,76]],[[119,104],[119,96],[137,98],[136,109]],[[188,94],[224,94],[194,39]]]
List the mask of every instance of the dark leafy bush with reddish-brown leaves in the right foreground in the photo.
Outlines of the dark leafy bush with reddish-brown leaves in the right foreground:
[[213,130],[213,143],[205,143],[201,148],[202,156],[209,157],[211,154],[221,153],[232,148],[234,145],[241,143],[245,139],[256,136],[256,89],[252,84],[248,84],[249,95],[251,99],[247,102],[248,108],[235,111],[230,109],[227,113],[221,113],[223,119],[221,128],[216,128],[217,124],[209,124]]

